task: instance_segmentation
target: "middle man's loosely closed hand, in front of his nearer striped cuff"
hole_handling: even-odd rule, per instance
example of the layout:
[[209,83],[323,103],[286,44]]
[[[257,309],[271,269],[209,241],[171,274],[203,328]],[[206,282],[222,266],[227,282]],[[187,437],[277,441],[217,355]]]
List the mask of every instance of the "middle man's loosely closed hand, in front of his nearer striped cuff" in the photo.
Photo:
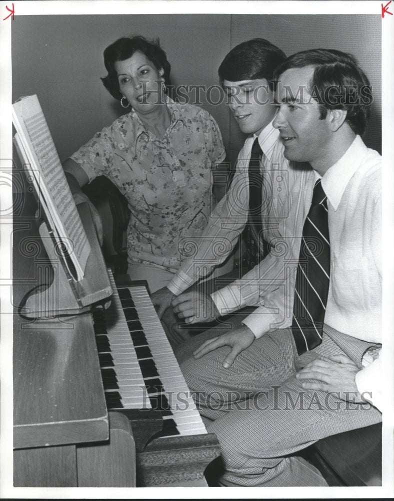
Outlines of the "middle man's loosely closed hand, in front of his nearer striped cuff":
[[184,318],[186,324],[212,322],[220,317],[212,298],[198,291],[180,294],[171,301],[171,305],[173,311],[179,318]]

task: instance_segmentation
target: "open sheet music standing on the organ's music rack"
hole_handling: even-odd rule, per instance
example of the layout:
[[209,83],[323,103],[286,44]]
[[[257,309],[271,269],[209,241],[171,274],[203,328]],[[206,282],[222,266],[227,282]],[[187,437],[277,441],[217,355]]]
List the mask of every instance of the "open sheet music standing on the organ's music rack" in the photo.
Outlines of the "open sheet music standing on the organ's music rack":
[[[67,249],[77,281],[84,276],[90,245],[68,187],[56,148],[36,95],[12,105],[15,143],[56,241]],[[68,267],[67,260],[65,263]],[[69,273],[74,275],[68,268]]]

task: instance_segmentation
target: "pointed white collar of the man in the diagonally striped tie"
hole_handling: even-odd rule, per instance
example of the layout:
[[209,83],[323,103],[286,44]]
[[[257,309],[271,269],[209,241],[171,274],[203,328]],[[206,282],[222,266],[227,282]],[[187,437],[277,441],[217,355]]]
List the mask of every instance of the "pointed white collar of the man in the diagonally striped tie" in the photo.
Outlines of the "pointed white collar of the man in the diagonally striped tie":
[[342,157],[321,178],[321,186],[334,210],[338,208],[347,183],[365,158],[366,150],[360,136],[356,136]]

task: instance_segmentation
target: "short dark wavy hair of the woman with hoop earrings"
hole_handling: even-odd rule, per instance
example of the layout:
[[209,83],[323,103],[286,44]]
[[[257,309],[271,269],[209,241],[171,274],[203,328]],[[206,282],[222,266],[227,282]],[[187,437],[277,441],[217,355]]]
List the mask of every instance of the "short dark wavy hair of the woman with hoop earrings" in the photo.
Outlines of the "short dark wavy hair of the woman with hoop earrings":
[[160,48],[159,40],[146,40],[140,35],[134,37],[123,37],[113,42],[104,50],[104,65],[108,75],[101,78],[106,90],[117,100],[122,98],[119,90],[117,73],[114,68],[116,61],[124,61],[130,58],[134,52],[139,51],[145,54],[147,59],[153,63],[156,70],[164,70],[163,78],[165,85],[169,85],[169,72],[171,65],[167,61],[165,52]]

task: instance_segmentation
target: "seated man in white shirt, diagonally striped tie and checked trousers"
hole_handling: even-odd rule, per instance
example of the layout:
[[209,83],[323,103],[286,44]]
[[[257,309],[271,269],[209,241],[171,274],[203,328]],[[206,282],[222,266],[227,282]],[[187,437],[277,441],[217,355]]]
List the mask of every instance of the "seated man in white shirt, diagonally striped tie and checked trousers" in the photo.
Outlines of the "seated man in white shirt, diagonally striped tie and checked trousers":
[[284,155],[314,172],[298,263],[243,326],[190,343],[181,366],[227,486],[326,485],[297,451],[381,420],[381,158],[360,138],[371,87],[352,56],[323,49],[275,78]]

